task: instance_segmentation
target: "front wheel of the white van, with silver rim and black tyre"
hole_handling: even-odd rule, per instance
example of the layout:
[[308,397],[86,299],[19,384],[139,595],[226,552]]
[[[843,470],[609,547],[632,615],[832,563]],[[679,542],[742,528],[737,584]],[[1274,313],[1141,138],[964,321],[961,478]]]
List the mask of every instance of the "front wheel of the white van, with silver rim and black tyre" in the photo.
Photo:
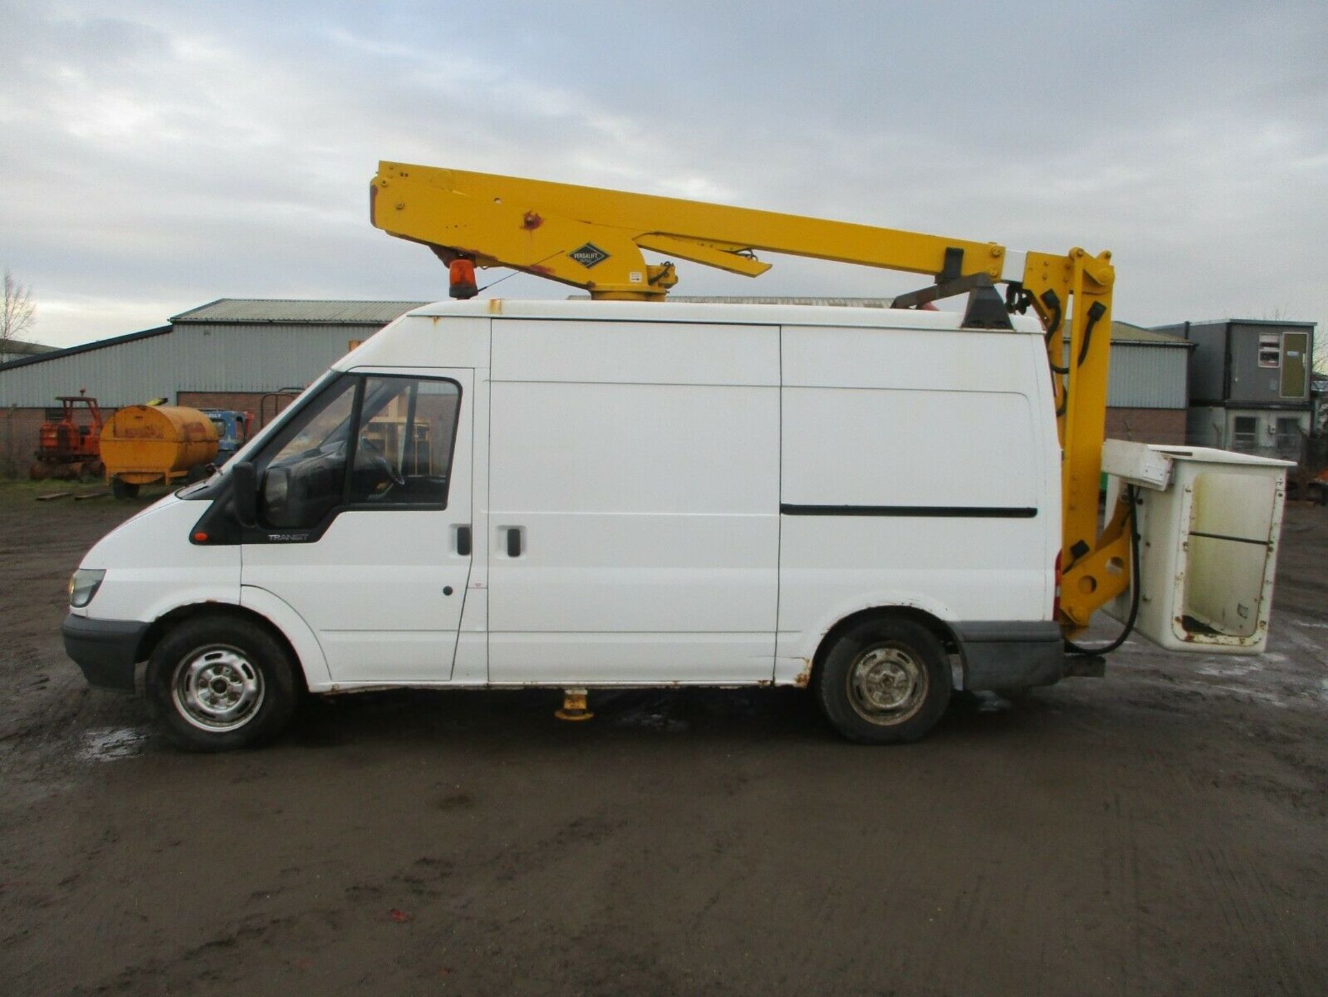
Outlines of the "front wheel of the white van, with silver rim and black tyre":
[[147,704],[187,751],[230,751],[276,737],[295,712],[295,662],[267,629],[232,616],[195,616],[147,660]]

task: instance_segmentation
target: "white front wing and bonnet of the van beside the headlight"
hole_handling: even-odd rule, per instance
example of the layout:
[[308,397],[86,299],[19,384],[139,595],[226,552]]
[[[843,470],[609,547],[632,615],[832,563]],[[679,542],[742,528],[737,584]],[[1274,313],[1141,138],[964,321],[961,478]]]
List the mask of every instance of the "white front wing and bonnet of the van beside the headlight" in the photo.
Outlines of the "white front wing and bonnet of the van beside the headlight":
[[166,495],[125,520],[88,551],[85,567],[105,568],[97,596],[74,615],[151,623],[182,605],[240,601],[238,547],[189,542],[197,502]]

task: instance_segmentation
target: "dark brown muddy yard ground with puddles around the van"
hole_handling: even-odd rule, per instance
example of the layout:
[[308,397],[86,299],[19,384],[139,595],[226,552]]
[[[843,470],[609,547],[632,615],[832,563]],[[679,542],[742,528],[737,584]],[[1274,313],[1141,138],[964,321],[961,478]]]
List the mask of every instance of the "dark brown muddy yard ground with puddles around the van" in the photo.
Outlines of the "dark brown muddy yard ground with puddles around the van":
[[1323,994],[1328,510],[1288,510],[1259,658],[863,749],[797,690],[312,702],[179,754],[62,653],[142,502],[0,487],[7,994]]

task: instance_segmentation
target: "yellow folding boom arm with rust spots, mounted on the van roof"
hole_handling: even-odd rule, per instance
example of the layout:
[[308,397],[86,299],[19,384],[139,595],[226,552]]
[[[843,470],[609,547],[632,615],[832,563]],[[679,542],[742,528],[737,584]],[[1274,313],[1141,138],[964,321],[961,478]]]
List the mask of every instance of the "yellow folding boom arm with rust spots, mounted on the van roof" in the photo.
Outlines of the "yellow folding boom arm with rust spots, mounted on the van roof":
[[1096,609],[1129,588],[1129,507],[1120,504],[1101,534],[1097,511],[1116,277],[1110,252],[1074,248],[1020,259],[991,242],[405,163],[378,163],[369,190],[374,226],[429,246],[445,263],[510,267],[596,299],[668,293],[677,283],[673,264],[649,264],[643,250],[753,277],[770,268],[757,252],[934,277],[935,289],[904,296],[914,301],[960,291],[992,295],[992,284],[1005,283],[1007,307],[1032,308],[1046,329],[1062,447],[1066,632],[1081,632]]

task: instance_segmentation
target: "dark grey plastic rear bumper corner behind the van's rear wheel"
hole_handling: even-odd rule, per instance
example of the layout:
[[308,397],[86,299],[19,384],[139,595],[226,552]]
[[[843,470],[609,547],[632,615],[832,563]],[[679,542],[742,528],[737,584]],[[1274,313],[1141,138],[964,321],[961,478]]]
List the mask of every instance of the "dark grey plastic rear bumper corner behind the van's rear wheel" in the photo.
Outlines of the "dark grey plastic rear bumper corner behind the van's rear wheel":
[[1065,639],[1057,623],[964,623],[955,624],[955,637],[965,689],[1031,689],[1066,674]]

